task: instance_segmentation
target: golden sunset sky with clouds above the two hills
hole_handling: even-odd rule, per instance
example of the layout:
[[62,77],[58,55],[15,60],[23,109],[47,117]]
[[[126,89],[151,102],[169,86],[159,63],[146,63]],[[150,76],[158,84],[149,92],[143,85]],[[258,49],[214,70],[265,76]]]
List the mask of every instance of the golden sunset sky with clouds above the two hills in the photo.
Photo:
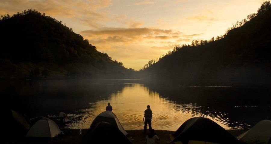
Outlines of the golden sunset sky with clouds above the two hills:
[[63,21],[112,59],[139,70],[176,45],[210,40],[264,0],[0,0],[0,15],[36,9]]

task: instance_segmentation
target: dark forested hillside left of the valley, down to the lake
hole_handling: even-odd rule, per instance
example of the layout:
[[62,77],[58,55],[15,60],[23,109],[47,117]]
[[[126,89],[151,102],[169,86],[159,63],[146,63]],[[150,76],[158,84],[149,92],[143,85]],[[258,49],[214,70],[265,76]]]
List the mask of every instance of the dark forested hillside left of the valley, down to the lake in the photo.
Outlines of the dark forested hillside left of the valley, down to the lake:
[[35,10],[0,19],[0,79],[124,78],[133,71]]

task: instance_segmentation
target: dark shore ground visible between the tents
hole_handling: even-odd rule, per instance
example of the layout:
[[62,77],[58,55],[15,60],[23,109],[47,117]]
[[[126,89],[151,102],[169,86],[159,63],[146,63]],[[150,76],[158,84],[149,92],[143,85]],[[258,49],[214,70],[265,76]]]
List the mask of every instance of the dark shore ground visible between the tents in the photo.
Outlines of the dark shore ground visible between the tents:
[[[80,134],[80,130],[78,129],[61,129],[61,131],[64,131],[66,135],[58,136],[54,139],[17,139],[17,140],[10,140],[8,142],[1,142],[0,143],[31,143],[31,144],[43,144],[43,143],[66,143],[66,144],[78,144],[80,143],[80,140],[84,136],[84,134],[87,132],[88,129],[83,129],[82,134]],[[142,133],[143,130],[126,130],[128,133],[127,137],[131,140],[133,144],[143,144],[145,142],[145,138],[148,134]],[[169,135],[174,133],[173,131],[168,130],[155,130],[157,133],[157,136],[160,137],[160,144],[164,143],[170,143],[171,140],[169,138]],[[242,130],[228,130],[229,133],[231,133],[233,136],[238,136],[245,131]]]

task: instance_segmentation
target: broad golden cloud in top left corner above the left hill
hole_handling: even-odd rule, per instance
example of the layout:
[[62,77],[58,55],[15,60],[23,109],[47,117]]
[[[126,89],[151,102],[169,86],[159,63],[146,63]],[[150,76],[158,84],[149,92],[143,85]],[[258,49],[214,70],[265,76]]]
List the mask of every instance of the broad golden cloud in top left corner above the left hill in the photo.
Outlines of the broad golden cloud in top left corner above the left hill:
[[0,15],[36,9],[52,17],[70,18],[94,28],[110,20],[106,14],[97,10],[112,5],[110,0],[0,0],[0,3]]

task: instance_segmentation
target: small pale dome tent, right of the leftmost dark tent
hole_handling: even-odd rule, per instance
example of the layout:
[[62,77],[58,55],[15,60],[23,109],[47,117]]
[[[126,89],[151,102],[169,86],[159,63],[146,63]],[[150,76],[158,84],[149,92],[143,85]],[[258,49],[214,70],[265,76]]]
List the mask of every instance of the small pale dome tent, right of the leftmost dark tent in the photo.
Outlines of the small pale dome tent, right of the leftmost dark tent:
[[26,137],[49,137],[53,138],[60,133],[58,125],[49,118],[37,121],[28,131]]

